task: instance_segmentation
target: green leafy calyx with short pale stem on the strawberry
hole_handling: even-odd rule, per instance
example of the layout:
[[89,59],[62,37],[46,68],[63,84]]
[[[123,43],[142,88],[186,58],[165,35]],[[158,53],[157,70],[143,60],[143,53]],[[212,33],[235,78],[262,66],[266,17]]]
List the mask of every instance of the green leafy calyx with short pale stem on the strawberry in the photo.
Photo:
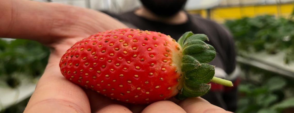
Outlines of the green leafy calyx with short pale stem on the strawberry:
[[211,87],[207,84],[208,82],[233,86],[231,81],[214,77],[214,66],[207,63],[215,58],[216,50],[204,41],[208,41],[205,34],[193,34],[191,31],[183,34],[178,40],[183,48],[181,67],[184,75],[183,88],[176,96],[178,99],[200,97],[206,94]]

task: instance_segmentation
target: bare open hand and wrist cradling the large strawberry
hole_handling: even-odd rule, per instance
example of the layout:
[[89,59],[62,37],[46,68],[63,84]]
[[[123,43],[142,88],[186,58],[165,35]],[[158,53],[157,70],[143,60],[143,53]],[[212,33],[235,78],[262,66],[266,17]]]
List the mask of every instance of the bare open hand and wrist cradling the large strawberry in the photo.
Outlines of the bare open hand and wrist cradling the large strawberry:
[[227,113],[196,97],[131,105],[113,101],[66,80],[59,60],[76,41],[98,31],[127,27],[101,12],[74,6],[28,0],[0,1],[0,37],[30,39],[51,48],[49,63],[25,113]]

